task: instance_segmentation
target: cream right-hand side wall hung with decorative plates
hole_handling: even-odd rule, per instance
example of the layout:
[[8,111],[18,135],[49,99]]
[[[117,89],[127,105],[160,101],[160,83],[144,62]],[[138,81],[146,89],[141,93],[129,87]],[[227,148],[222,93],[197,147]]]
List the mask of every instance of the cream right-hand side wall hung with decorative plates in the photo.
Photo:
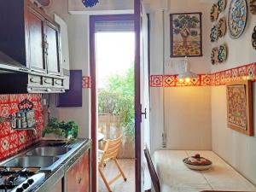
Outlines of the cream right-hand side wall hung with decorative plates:
[[[230,0],[227,1],[230,4]],[[209,5],[209,9],[210,9]],[[228,8],[222,16],[228,15]],[[228,60],[221,65],[212,66],[212,72],[238,67],[256,61],[256,51],[251,45],[253,27],[256,26],[256,15],[248,13],[247,27],[239,39],[230,38],[229,33],[219,39],[218,44],[225,43],[229,49]],[[253,84],[253,108],[255,102],[255,84]],[[212,149],[237,171],[256,184],[256,137],[247,137],[227,127],[225,86],[212,87]],[[256,119],[254,113],[254,119]],[[254,121],[254,130],[255,130]]]

